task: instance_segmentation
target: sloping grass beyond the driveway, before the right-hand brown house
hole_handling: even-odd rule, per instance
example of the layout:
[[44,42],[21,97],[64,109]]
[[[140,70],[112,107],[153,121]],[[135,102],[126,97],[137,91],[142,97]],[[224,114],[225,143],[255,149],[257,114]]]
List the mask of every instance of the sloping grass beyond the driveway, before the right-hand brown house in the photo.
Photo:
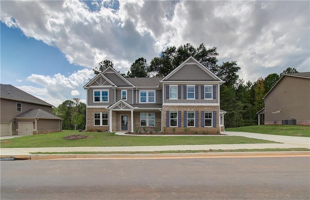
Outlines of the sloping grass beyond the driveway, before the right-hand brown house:
[[287,125],[243,126],[243,127],[237,127],[237,128],[225,128],[225,131],[310,137],[309,126],[287,126]]

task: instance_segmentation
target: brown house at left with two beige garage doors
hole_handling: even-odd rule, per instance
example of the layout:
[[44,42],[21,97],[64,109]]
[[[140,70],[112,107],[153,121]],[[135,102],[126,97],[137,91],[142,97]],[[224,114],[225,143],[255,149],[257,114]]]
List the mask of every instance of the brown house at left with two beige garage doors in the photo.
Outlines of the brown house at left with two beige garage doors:
[[12,85],[0,84],[0,135],[32,135],[61,131],[53,105]]

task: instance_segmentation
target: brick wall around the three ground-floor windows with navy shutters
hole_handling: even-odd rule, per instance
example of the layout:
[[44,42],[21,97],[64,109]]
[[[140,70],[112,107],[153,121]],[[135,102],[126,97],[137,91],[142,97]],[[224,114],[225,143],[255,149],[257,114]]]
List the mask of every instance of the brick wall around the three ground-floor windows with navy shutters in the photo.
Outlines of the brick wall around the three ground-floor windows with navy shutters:
[[[219,131],[219,106],[162,106],[162,123],[163,127],[166,127],[166,111],[181,111],[181,127],[175,128],[175,133],[184,133],[184,112],[183,111],[198,111],[199,127],[188,127],[187,133],[203,133],[208,131],[209,133],[216,134]],[[201,111],[216,111],[216,127],[201,127]],[[163,128],[164,130],[165,128]],[[166,127],[166,133],[173,133],[172,128]]]

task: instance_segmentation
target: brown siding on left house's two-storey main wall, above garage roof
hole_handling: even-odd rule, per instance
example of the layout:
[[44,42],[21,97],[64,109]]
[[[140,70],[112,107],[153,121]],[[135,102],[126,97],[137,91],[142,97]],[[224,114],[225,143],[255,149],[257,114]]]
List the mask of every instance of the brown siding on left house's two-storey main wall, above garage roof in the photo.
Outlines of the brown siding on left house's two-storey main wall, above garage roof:
[[[16,103],[21,103],[21,112],[16,111]],[[34,103],[20,102],[20,101],[1,98],[0,99],[0,113],[1,113],[0,121],[11,122],[12,131],[15,131],[17,127],[17,123],[16,124],[13,123],[15,121],[14,117],[25,111],[28,111],[29,109],[42,109],[43,111],[52,113],[51,106],[44,106],[44,105],[39,105],[39,104],[34,104]]]

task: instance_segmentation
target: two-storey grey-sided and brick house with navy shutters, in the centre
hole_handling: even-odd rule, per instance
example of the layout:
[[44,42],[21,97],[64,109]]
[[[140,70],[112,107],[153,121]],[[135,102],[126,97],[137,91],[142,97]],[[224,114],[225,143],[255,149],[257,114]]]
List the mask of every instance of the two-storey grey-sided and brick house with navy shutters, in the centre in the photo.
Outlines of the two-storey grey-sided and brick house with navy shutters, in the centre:
[[222,83],[193,57],[165,77],[124,78],[108,67],[83,87],[86,129],[218,133],[226,113],[219,109]]

